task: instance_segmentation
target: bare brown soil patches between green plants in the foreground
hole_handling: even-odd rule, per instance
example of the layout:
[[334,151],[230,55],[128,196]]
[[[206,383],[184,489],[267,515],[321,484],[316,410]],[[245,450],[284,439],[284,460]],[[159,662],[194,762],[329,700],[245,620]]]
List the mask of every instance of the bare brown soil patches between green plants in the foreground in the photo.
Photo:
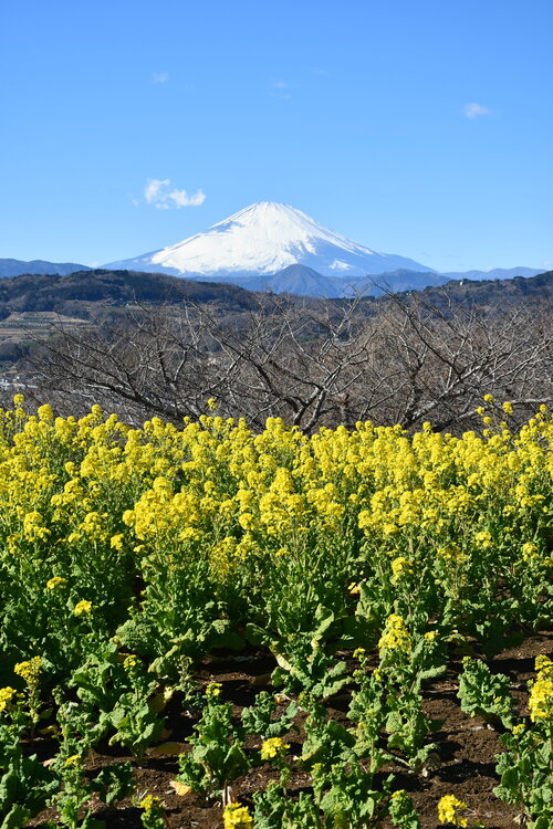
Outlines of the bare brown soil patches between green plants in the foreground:
[[[502,672],[511,678],[511,691],[517,700],[518,713],[528,714],[526,681],[534,675],[534,658],[540,653],[551,653],[553,632],[530,636],[522,644],[505,650],[488,661],[490,669]],[[345,654],[343,654],[345,655]],[[236,705],[237,713],[244,705],[251,705],[255,694],[269,681],[268,675],[273,668],[270,655],[260,651],[251,651],[244,659],[229,657],[226,660],[206,659],[199,671],[199,679],[204,682],[220,682],[222,684],[221,699]],[[479,717],[470,718],[459,707],[457,699],[458,673],[461,670],[461,657],[452,655],[448,672],[425,690],[426,711],[432,718],[444,720],[440,731],[432,735],[439,745],[440,762],[437,767],[422,777],[406,772],[404,767],[392,767],[396,775],[396,788],[406,789],[413,797],[421,819],[422,829],[437,829],[441,825],[437,819],[437,804],[444,795],[452,794],[468,805],[467,818],[469,827],[481,821],[486,829],[515,829],[521,826],[520,811],[498,800],[493,795],[493,787],[498,785],[494,773],[495,755],[502,751],[499,733],[490,728]],[[335,718],[344,718],[347,701],[335,701],[328,705],[328,713]],[[186,741],[191,733],[194,721],[178,705],[178,700],[171,701],[171,709],[167,713],[167,725],[170,730],[168,739],[176,743]],[[301,726],[301,717],[299,723]],[[301,736],[295,732],[290,734],[291,752],[301,753]],[[253,742],[251,746],[253,747]],[[259,747],[259,746],[258,746]],[[175,746],[178,754],[180,747]],[[34,745],[41,758],[53,756],[56,744],[46,739]],[[104,746],[92,752],[87,763],[90,772],[116,762],[132,759],[114,748]],[[192,796],[179,797],[170,787],[170,781],[178,773],[177,756],[159,756],[156,748],[147,752],[142,767],[136,767],[135,776],[137,795],[149,793],[156,795],[165,805],[167,826],[170,829],[219,829],[222,826],[221,807]],[[388,772],[388,769],[386,769]],[[268,783],[276,778],[276,773],[269,764],[253,768],[232,786],[232,794],[243,804],[251,804],[254,791],[264,789]],[[310,776],[305,772],[296,770],[292,776],[291,791],[305,789],[310,786]],[[41,827],[48,818],[54,817],[53,811],[44,812],[40,819],[31,821],[29,826]],[[117,809],[107,809],[98,804],[95,817],[105,820],[108,829],[139,829],[140,809],[131,801],[125,801]],[[523,825],[523,822],[522,822]],[[383,823],[389,827],[388,821]]]

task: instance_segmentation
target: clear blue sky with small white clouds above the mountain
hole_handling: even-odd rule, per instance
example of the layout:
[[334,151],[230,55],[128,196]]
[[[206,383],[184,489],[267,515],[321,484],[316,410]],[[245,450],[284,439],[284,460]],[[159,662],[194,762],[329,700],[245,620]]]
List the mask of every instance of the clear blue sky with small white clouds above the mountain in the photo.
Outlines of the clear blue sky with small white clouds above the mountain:
[[3,0],[0,258],[274,200],[437,270],[553,267],[552,31],[551,0]]

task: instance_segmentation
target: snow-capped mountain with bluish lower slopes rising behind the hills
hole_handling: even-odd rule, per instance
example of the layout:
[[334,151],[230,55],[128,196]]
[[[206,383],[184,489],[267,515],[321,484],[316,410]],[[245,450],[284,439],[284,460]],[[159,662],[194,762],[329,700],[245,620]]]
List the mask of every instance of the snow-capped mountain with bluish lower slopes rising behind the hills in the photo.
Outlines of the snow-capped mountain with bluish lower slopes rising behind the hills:
[[275,201],[259,201],[205,233],[106,266],[237,282],[237,277],[270,275],[293,264],[346,281],[397,269],[432,270],[411,259],[352,242],[301,210]]

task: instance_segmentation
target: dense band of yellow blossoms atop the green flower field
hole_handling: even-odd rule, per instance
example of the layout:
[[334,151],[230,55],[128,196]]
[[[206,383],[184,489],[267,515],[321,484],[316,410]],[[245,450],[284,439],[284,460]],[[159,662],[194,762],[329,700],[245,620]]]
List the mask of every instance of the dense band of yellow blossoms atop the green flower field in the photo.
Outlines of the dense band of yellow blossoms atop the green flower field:
[[[63,599],[100,621],[116,605],[103,579],[122,567],[145,594],[157,579],[158,596],[201,567],[218,599],[257,589],[268,565],[286,578],[354,554],[363,567],[344,567],[342,587],[352,601],[365,600],[371,574],[398,601],[431,574],[460,602],[487,571],[508,592],[510,579],[545,584],[553,564],[546,409],[519,431],[408,434],[367,421],[307,436],[280,418],[255,433],[215,401],[198,421],[152,418],[142,429],[98,406],[80,419],[23,407],[17,396],[0,410],[0,555],[6,573],[41,586],[46,612]],[[384,612],[393,607],[404,612]],[[407,630],[388,623],[380,650],[409,648]]]

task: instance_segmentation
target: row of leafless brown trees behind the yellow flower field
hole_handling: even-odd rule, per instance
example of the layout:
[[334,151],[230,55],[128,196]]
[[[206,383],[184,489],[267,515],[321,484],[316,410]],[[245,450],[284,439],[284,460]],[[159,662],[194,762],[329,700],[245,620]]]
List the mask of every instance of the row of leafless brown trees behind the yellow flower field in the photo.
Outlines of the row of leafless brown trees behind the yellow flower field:
[[101,402],[132,422],[198,417],[216,398],[254,428],[358,420],[462,430],[490,392],[521,418],[553,398],[551,308],[483,313],[424,295],[367,304],[265,296],[222,315],[144,307],[124,325],[53,332],[34,363],[39,395]]

